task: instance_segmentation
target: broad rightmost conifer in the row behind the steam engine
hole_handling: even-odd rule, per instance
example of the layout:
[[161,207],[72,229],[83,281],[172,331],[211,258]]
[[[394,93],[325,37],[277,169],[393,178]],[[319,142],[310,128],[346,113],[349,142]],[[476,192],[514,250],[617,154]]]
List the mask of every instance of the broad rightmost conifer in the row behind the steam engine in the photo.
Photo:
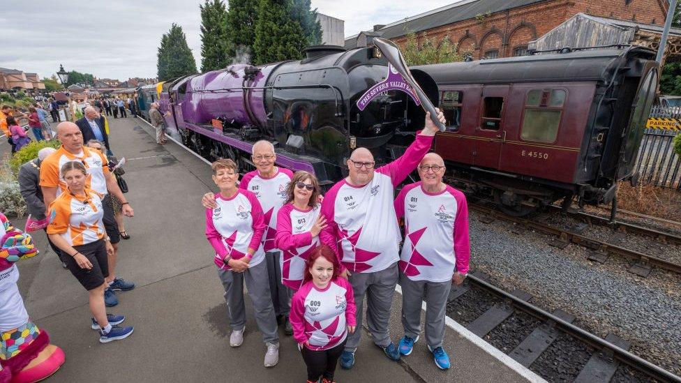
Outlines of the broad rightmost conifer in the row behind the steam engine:
[[303,57],[305,32],[292,10],[292,0],[260,0],[253,45],[256,64]]

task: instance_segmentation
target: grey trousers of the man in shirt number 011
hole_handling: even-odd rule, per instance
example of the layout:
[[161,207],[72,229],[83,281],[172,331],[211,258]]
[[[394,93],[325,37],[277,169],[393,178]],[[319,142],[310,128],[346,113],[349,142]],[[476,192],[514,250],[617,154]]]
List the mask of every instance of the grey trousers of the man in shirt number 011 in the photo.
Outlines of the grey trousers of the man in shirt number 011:
[[400,286],[402,287],[402,325],[405,335],[416,339],[421,333],[421,301],[425,300],[426,342],[431,350],[442,347],[444,315],[447,309],[447,296],[451,290],[451,280],[447,282],[410,280],[400,273]]

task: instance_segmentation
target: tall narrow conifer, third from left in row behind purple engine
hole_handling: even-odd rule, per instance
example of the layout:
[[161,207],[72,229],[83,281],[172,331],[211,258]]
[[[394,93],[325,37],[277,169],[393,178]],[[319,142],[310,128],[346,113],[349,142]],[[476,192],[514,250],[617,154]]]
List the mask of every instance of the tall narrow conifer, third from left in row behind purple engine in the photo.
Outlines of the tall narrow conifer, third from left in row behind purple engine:
[[235,61],[251,61],[250,55],[254,52],[253,43],[255,42],[257,15],[257,1],[229,0],[227,38],[231,44],[227,51],[228,57]]

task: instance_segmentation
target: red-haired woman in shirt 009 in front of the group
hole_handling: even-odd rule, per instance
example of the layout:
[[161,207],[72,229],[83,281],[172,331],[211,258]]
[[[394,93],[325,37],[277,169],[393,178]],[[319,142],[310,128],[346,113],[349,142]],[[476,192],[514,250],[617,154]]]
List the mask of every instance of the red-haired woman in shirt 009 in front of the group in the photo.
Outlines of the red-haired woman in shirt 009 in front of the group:
[[308,382],[334,381],[338,358],[345,348],[347,333],[354,333],[352,286],[340,278],[340,264],[329,246],[310,254],[304,283],[293,296],[291,325],[308,367]]

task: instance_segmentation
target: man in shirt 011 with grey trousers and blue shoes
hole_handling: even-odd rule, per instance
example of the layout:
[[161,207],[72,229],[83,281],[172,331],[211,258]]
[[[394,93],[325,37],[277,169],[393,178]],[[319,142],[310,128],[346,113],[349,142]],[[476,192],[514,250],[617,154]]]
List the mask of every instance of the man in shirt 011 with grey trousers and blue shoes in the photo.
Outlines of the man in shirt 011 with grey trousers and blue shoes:
[[463,282],[468,272],[470,239],[468,207],[461,191],[442,182],[444,161],[428,153],[419,164],[421,182],[407,185],[395,200],[398,218],[405,220],[400,257],[402,324],[400,353],[412,353],[421,332],[421,301],[426,301],[426,341],[438,368],[449,368],[442,347],[444,316],[452,280]]

